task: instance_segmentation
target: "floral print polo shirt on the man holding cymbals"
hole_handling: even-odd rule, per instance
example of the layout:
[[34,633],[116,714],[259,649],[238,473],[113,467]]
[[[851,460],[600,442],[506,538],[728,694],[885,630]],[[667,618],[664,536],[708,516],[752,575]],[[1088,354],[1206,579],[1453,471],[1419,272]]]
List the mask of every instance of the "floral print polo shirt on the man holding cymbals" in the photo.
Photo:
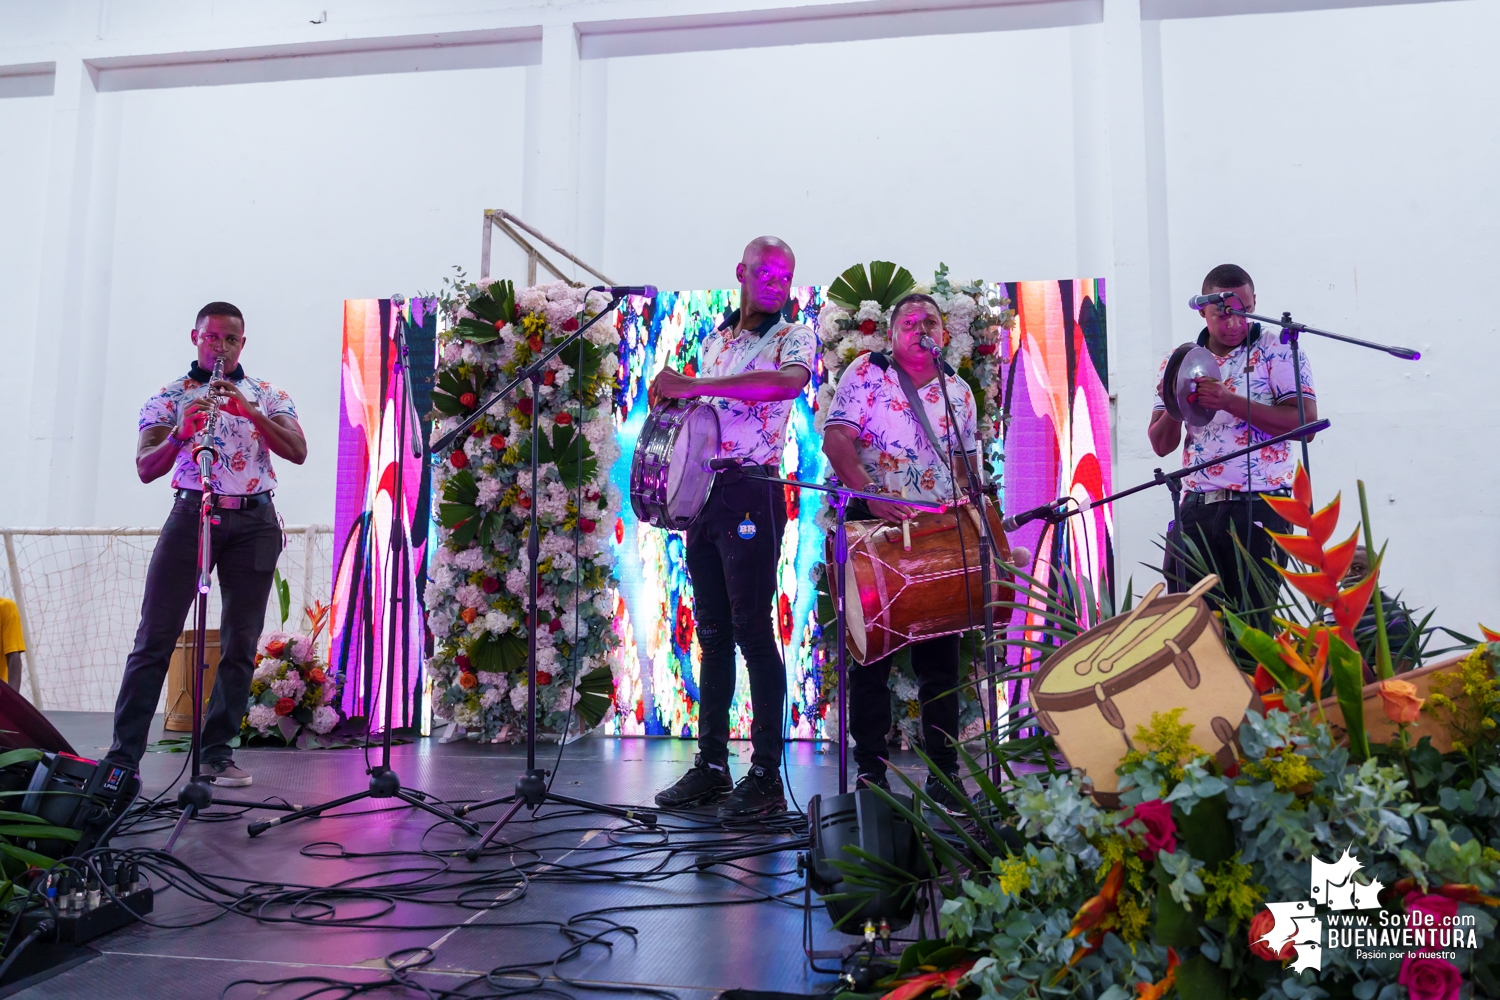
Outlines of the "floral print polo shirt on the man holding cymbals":
[[[1262,330],[1256,324],[1252,330]],[[1198,343],[1208,346],[1208,330],[1198,334]],[[1302,361],[1302,397],[1317,399],[1312,391],[1312,369],[1308,366],[1308,352],[1299,349]],[[1218,357],[1220,376],[1224,385],[1236,396],[1245,396],[1245,372],[1250,372],[1250,399],[1256,403],[1286,403],[1298,396],[1298,384],[1292,376],[1292,345],[1281,343],[1281,337],[1274,330],[1263,330],[1246,349],[1240,345],[1230,351],[1228,357]],[[1156,369],[1156,402],[1152,409],[1166,409],[1161,402],[1161,379],[1167,372],[1167,361],[1172,354],[1161,360]],[[1208,462],[1221,454],[1239,451],[1252,444],[1256,438],[1266,439],[1275,435],[1263,433],[1250,426],[1244,417],[1234,417],[1222,409],[1214,414],[1214,420],[1202,427],[1182,424],[1182,466]],[[1182,481],[1182,489],[1190,493],[1209,493],[1212,490],[1276,490],[1292,486],[1292,478],[1298,472],[1298,460],[1293,456],[1294,441],[1282,441],[1268,448],[1250,453],[1245,457],[1232,459],[1220,465],[1210,465],[1202,472],[1194,472]]]

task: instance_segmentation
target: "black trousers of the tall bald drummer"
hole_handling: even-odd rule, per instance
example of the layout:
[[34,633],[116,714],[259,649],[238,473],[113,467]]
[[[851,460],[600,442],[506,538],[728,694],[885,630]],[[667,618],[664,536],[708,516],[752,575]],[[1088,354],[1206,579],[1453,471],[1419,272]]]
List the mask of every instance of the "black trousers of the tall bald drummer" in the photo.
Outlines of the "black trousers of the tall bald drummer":
[[[744,538],[740,523],[754,523]],[[698,750],[705,763],[729,763],[729,703],[735,696],[735,645],[750,673],[752,763],[782,765],[786,670],[776,645],[771,607],[782,555],[786,501],[782,486],[735,472],[720,475],[704,513],[687,529],[687,576],[698,618]]]

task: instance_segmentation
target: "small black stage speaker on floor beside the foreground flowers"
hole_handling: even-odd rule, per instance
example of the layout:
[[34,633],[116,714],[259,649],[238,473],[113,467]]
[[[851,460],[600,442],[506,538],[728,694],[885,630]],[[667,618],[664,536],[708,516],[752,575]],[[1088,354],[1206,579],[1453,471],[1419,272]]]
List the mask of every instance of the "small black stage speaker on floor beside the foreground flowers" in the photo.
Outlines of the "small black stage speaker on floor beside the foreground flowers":
[[[896,799],[910,808],[909,795]],[[807,826],[812,835],[807,879],[820,897],[854,894],[858,898],[824,900],[834,927],[844,934],[864,933],[866,921],[885,919],[892,930],[906,927],[916,909],[914,886],[876,889],[849,882],[831,862],[856,865],[872,876],[890,876],[844,847],[879,858],[882,862],[915,873],[921,846],[912,825],[897,816],[874,792],[860,789],[844,795],[814,795],[807,802]]]

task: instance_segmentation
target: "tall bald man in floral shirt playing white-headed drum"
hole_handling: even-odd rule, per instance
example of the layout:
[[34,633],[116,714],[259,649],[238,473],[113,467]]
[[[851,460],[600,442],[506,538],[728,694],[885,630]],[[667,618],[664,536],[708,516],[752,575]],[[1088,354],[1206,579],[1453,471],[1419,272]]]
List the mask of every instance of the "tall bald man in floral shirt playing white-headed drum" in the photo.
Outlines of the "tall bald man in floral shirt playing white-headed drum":
[[[735,276],[740,309],[704,340],[700,375],[664,369],[650,400],[704,399],[718,411],[718,454],[744,471],[778,475],[792,400],[813,376],[818,337],[788,322],[792,249],[776,237],[746,247]],[[718,477],[704,511],[687,529],[687,576],[698,618],[698,757],[676,784],[656,796],[663,808],[723,799],[720,819],[744,820],[786,811],[782,790],[782,715],[786,669],[771,606],[782,553],[786,504],[782,487],[729,471]],[[750,673],[750,771],[729,780],[729,702],[735,694],[735,643]],[[726,798],[728,796],[728,798]]]

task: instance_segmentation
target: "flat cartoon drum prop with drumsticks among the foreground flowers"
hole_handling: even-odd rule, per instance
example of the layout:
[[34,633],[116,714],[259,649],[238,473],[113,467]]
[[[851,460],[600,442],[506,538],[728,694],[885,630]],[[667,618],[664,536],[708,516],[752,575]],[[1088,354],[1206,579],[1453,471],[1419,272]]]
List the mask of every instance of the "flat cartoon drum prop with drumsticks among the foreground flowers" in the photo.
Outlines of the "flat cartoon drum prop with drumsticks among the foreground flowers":
[[1161,598],[1156,585],[1128,615],[1095,625],[1036,672],[1036,720],[1068,766],[1094,783],[1101,805],[1119,805],[1114,769],[1152,712],[1185,709],[1180,721],[1192,726],[1192,742],[1227,766],[1245,712],[1264,711],[1203,600],[1215,583],[1208,576],[1186,594]]

